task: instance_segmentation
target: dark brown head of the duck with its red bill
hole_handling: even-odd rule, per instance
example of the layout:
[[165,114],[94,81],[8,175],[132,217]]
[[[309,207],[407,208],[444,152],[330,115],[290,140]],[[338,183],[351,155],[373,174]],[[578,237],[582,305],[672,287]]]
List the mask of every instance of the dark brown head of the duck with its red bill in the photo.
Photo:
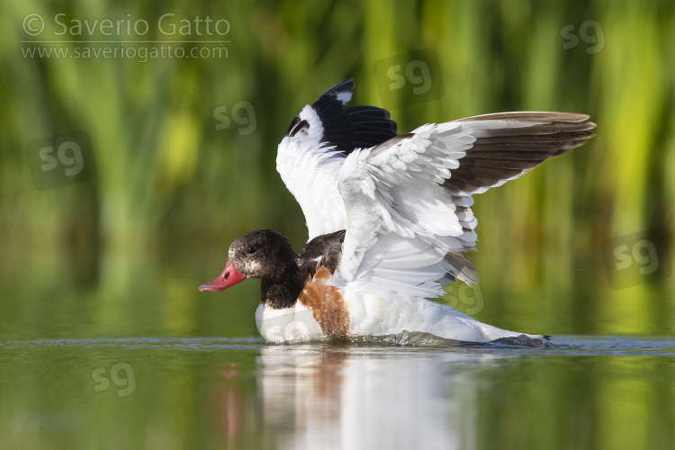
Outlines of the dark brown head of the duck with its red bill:
[[229,246],[222,273],[200,291],[224,291],[247,278],[281,279],[289,268],[297,269],[297,255],[288,239],[271,229],[259,229],[237,238]]

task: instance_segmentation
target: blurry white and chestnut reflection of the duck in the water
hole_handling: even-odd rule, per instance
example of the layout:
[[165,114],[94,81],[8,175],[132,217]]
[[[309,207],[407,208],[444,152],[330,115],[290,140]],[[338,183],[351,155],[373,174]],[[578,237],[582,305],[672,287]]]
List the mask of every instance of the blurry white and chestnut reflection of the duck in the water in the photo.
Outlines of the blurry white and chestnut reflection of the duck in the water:
[[[496,356],[415,348],[260,349],[282,448],[473,448],[478,372]],[[480,362],[480,364],[477,364]]]

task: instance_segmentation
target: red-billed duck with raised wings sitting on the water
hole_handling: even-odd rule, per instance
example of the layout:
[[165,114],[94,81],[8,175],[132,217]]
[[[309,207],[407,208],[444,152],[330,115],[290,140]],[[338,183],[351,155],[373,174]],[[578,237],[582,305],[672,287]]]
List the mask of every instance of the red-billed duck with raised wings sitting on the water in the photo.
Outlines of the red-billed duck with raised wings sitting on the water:
[[298,114],[276,166],[300,203],[305,248],[260,229],[235,239],[202,292],[261,280],[256,311],[269,343],[419,332],[462,342],[545,335],[499,329],[434,299],[478,284],[473,194],[518,178],[594,136],[577,112],[498,112],[398,134],[391,113],[347,107],[354,80]]

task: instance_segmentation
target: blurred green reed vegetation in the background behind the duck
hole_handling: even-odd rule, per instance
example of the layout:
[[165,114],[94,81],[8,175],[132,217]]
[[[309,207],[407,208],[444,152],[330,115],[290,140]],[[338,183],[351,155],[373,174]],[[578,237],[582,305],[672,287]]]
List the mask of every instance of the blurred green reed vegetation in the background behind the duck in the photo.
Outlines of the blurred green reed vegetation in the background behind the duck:
[[[671,249],[674,12],[608,0],[4,2],[0,336],[255,336],[256,283],[196,287],[247,231],[276,229],[302,248],[277,143],[304,104],[350,76],[353,104],[383,105],[375,62],[419,49],[437,53],[445,95],[393,109],[401,132],[518,110],[587,112],[599,124],[586,146],[474,197],[476,317],[533,333],[671,334],[675,277],[612,289],[600,246],[657,229],[660,254]],[[231,42],[227,58],[24,58],[33,44],[21,40],[53,36],[58,13],[144,19],[148,40],[170,39],[152,26],[162,14],[226,18]],[[23,30],[27,14],[45,18],[40,37]],[[229,126],[219,130],[214,110]],[[89,134],[97,176],[38,191],[26,145],[74,130]]]

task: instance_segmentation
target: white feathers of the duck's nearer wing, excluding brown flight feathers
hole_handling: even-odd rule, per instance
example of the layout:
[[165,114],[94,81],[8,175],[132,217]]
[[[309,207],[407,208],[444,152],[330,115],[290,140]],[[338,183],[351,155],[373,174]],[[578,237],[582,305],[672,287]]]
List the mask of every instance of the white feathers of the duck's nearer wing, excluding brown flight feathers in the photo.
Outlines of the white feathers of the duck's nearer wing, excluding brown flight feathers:
[[471,202],[440,184],[474,141],[461,123],[428,124],[347,157],[338,181],[347,208],[338,278],[420,297],[442,294],[437,281],[454,268],[444,257],[473,247],[476,220]]

